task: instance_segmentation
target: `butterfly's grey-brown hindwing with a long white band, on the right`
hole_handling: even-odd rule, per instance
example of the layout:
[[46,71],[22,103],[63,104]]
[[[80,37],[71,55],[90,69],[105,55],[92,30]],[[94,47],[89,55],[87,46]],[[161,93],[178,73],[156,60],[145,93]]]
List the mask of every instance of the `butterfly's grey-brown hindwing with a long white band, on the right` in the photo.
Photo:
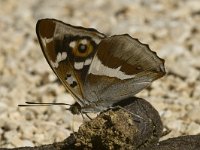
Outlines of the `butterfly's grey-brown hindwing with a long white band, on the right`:
[[[101,111],[135,95],[164,74],[164,60],[148,45],[127,34],[115,35],[99,44],[84,92],[86,99]],[[90,111],[89,107],[85,111]]]

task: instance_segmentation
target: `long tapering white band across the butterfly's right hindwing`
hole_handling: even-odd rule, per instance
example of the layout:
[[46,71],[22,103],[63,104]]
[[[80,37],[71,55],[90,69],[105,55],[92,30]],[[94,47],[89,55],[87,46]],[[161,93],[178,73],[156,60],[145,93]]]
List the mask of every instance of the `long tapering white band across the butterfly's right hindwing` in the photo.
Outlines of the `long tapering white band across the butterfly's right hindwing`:
[[121,66],[118,68],[109,68],[101,63],[97,56],[94,57],[93,62],[90,66],[89,73],[94,75],[104,75],[109,77],[116,77],[121,80],[133,78],[134,75],[127,75],[121,70]]

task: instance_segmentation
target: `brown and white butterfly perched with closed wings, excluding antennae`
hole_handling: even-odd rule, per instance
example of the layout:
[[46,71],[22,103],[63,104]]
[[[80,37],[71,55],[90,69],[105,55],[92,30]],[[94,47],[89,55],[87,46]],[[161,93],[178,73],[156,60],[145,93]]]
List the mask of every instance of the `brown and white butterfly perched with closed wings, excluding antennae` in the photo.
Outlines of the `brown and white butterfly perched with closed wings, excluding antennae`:
[[[165,75],[164,60],[128,34],[41,19],[36,33],[43,54],[82,113],[101,112]],[[75,111],[72,111],[75,113]]]

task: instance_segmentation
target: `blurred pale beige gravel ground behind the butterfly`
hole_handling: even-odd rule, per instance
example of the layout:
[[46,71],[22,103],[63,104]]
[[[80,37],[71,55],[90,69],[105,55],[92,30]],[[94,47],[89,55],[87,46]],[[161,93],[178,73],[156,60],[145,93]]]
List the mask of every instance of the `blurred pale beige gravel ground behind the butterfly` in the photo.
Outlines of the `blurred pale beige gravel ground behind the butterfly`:
[[200,134],[199,0],[0,0],[0,147],[62,141],[82,122],[65,107],[19,108],[25,101],[73,103],[48,66],[35,33],[38,19],[128,33],[165,59],[167,75],[137,96],[171,132]]

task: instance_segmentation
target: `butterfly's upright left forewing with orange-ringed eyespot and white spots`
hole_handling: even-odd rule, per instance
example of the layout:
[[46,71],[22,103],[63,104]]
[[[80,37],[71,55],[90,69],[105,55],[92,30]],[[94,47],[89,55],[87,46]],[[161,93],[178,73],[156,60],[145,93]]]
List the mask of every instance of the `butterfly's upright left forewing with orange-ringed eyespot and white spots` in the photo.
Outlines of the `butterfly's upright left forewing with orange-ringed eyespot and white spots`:
[[39,20],[36,33],[54,73],[79,104],[85,105],[85,77],[97,45],[105,35],[95,29],[75,27],[55,19]]

